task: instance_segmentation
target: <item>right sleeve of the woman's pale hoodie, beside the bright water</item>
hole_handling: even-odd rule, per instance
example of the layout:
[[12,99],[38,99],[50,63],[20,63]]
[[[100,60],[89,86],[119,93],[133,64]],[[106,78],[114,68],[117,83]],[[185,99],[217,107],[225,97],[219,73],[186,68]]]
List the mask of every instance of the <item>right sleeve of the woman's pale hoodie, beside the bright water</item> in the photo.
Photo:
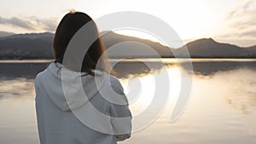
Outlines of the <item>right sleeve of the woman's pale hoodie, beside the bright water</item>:
[[117,141],[124,141],[131,137],[131,111],[124,89],[117,78],[111,79],[112,89],[119,94],[117,99],[126,101],[125,105],[110,103],[111,124],[113,125],[114,134]]

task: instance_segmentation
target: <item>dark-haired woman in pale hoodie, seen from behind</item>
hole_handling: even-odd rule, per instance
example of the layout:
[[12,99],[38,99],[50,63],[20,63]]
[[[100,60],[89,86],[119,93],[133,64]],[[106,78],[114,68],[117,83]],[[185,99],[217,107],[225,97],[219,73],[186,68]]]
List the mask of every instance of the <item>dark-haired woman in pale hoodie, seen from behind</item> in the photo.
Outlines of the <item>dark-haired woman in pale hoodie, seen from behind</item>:
[[131,136],[128,101],[119,80],[107,74],[102,39],[90,45],[79,69],[73,69],[76,56],[65,58],[72,37],[89,22],[90,32],[85,35],[98,36],[89,15],[70,12],[63,17],[55,32],[55,62],[35,79],[41,144],[113,144]]

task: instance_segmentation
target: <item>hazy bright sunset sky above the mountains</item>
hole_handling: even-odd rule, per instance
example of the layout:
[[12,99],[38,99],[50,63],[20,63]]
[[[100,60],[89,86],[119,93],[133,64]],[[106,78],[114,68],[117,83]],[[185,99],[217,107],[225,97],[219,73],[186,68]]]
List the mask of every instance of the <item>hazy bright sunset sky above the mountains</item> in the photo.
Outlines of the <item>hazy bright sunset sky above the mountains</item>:
[[183,40],[213,37],[241,46],[256,44],[255,0],[1,0],[0,34],[54,32],[70,9],[94,19],[139,11],[165,20]]

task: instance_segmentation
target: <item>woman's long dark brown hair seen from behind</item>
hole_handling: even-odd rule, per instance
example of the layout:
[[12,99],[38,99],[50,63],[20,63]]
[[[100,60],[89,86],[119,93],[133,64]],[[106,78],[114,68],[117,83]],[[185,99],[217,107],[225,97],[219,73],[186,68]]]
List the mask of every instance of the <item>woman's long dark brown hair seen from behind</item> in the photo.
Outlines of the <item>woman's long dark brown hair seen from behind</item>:
[[[57,26],[54,39],[54,51],[55,51],[55,62],[60,62],[62,64],[67,45],[79,29],[87,24],[92,22],[94,25],[92,27],[92,32],[98,36],[98,30],[96,28],[96,23],[90,18],[88,14],[82,12],[70,12],[66,14],[60,24]],[[98,37],[94,43],[90,45],[90,48],[87,50],[84,55],[84,60],[82,62],[80,72],[87,72],[91,75],[95,75],[93,70],[101,69],[104,72],[110,71],[110,66],[108,65],[107,55],[103,55],[106,48],[102,42],[102,38]],[[102,58],[101,58],[102,56]],[[98,60],[101,58],[101,64],[97,65]]]

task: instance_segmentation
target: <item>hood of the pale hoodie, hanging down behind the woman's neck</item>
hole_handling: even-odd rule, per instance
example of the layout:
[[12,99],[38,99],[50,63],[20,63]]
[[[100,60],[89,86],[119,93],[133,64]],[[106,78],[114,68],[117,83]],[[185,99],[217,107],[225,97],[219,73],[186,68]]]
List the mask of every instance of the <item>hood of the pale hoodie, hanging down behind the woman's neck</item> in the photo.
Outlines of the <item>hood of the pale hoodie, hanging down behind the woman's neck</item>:
[[52,62],[44,71],[44,89],[51,101],[62,111],[71,111],[85,105],[103,85],[104,72],[95,70],[96,76],[86,72],[73,72],[61,63]]

